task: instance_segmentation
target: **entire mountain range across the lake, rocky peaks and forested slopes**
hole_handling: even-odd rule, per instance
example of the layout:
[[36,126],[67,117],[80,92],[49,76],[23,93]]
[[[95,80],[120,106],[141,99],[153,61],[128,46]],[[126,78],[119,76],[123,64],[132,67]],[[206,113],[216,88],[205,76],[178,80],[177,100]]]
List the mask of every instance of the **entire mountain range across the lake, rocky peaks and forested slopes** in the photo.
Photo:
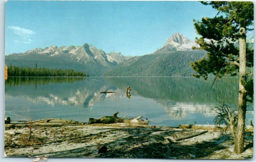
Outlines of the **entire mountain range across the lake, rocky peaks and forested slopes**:
[[193,73],[190,62],[206,54],[202,50],[192,50],[192,46],[198,47],[195,41],[175,33],[163,47],[144,56],[106,53],[85,43],[82,46],[51,46],[13,53],[5,56],[5,64],[74,69],[90,76],[190,76]]

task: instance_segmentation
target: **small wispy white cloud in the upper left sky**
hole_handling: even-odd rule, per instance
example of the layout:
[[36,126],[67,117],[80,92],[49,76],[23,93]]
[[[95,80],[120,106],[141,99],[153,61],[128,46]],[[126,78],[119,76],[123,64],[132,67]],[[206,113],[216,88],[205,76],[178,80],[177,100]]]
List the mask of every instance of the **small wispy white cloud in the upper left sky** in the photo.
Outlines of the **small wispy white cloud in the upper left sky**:
[[32,42],[31,35],[36,34],[32,30],[21,28],[21,27],[8,26],[7,28],[12,29],[14,34],[21,36],[21,38],[22,38],[21,42],[26,43],[26,44],[31,43]]

